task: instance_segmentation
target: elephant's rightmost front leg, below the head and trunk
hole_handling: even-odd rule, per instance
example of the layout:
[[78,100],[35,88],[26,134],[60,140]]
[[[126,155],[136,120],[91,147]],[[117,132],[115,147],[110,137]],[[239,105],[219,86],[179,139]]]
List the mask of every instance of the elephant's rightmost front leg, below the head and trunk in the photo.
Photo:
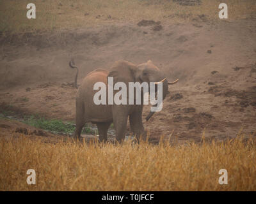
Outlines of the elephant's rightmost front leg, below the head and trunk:
[[146,132],[142,122],[142,112],[134,112],[129,116],[131,131],[135,134],[136,139],[139,140],[142,136],[145,139]]

